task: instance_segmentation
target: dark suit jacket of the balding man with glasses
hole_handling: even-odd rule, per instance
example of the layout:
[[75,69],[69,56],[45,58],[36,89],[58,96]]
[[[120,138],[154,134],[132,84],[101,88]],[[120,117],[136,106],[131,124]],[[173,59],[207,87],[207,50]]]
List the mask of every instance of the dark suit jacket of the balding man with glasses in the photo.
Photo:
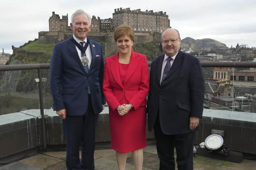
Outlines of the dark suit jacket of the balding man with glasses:
[[204,75],[196,57],[178,52],[166,78],[160,85],[164,55],[151,64],[148,94],[148,129],[154,128],[159,111],[160,125],[167,135],[188,133],[189,117],[202,117]]

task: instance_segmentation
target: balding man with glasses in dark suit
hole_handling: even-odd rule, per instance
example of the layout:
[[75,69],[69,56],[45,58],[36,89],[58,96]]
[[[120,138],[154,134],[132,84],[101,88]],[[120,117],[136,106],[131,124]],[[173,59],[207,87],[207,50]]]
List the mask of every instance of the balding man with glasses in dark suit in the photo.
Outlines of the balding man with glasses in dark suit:
[[160,170],[193,169],[193,141],[204,102],[204,75],[196,57],[180,51],[178,30],[162,33],[164,55],[151,64],[148,129],[154,128]]

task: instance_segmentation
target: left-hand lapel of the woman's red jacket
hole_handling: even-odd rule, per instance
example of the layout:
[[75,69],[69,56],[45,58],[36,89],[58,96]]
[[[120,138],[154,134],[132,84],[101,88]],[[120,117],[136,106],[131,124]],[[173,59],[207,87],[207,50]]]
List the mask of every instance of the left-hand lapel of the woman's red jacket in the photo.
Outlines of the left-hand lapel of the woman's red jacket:
[[110,69],[111,69],[114,79],[116,80],[116,83],[124,89],[121,79],[120,79],[120,74],[119,74],[118,53],[116,53],[116,55],[114,55],[113,59],[110,60]]

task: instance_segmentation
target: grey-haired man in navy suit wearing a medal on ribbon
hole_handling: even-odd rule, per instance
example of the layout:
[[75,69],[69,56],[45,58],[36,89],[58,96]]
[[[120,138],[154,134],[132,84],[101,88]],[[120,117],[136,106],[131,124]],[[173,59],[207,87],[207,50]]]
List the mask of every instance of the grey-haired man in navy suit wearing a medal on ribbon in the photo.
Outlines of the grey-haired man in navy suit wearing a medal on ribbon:
[[89,14],[74,12],[70,23],[73,36],[54,46],[50,62],[50,88],[54,110],[63,119],[68,170],[94,170],[95,128],[105,104],[102,45],[86,37],[90,24]]

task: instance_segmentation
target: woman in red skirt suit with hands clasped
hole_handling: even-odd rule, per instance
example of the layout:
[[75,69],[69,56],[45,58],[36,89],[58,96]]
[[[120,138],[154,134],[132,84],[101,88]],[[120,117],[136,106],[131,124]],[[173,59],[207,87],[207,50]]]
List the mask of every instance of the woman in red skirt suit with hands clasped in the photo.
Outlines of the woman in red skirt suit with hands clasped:
[[109,106],[111,147],[116,150],[119,170],[126,153],[132,152],[136,170],[142,170],[146,147],[146,96],[149,90],[145,55],[132,51],[134,32],[128,25],[114,31],[118,53],[106,58],[103,92]]

